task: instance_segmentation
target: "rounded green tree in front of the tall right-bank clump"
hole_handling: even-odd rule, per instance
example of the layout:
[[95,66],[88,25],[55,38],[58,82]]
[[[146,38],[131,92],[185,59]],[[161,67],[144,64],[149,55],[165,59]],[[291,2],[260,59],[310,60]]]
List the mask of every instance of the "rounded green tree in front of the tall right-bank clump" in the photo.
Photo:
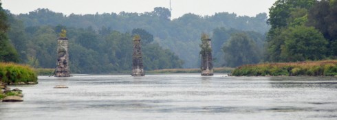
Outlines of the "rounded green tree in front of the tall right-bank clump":
[[281,58],[285,62],[321,60],[327,53],[327,40],[314,27],[285,29],[285,44],[281,45]]

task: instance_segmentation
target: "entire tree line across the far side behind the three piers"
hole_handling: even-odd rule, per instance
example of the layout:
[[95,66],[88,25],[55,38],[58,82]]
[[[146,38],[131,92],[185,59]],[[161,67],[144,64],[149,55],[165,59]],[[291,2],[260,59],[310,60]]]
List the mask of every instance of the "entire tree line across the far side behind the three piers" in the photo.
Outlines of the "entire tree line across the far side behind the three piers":
[[278,0],[269,18],[265,13],[249,17],[221,12],[184,14],[172,20],[167,8],[69,16],[47,9],[17,15],[1,10],[8,16],[1,17],[8,21],[0,26],[6,28],[1,37],[7,38],[1,42],[12,48],[1,51],[1,56],[12,51],[11,56],[19,56],[13,61],[53,68],[57,34],[65,28],[72,46],[71,69],[76,73],[129,70],[133,34],[142,35],[148,70],[198,68],[201,33],[210,34],[215,67],[334,59],[336,6],[334,0]]

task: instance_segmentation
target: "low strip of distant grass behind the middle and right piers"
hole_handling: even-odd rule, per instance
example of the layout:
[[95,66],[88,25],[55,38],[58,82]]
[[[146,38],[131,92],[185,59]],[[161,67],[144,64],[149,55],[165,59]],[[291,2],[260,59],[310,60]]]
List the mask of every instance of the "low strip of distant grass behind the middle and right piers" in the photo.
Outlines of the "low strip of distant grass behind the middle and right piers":
[[[215,73],[230,73],[233,68],[229,67],[221,67],[215,68]],[[145,71],[146,73],[200,73],[200,69],[160,69],[160,70],[153,70],[153,71]]]

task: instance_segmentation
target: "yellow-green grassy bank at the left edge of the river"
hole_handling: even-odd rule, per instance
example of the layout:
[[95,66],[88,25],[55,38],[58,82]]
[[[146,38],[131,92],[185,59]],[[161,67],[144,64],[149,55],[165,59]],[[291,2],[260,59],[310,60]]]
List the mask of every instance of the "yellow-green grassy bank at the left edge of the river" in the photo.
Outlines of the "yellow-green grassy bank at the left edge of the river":
[[37,75],[28,66],[0,62],[0,80],[5,84],[37,83]]

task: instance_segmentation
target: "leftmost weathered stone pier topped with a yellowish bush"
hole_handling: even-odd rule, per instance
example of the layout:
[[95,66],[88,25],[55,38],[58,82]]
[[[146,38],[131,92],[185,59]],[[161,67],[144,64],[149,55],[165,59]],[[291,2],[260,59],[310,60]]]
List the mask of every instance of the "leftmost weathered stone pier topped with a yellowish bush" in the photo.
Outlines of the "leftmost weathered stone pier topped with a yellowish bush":
[[68,53],[68,39],[65,36],[66,31],[62,29],[60,38],[57,40],[57,61],[55,77],[69,77],[69,53]]

